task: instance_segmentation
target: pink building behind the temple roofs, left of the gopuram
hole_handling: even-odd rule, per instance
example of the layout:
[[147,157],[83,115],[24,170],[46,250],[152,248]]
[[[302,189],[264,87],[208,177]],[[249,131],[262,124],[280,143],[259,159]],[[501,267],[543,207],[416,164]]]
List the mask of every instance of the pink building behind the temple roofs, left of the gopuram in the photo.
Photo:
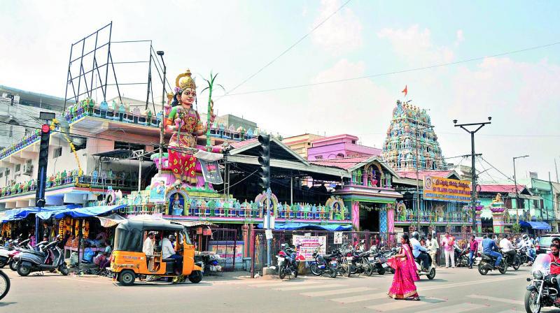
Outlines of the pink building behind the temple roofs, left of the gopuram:
[[346,157],[372,157],[381,155],[381,149],[358,145],[358,137],[342,134],[311,141],[307,149],[309,161]]

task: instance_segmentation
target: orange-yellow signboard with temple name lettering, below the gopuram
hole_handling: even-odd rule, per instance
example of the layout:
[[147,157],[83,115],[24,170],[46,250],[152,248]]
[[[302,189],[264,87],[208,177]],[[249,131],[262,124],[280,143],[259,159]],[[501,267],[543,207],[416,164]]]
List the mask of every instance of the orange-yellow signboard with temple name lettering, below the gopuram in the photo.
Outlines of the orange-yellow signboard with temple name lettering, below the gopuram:
[[424,199],[448,202],[470,202],[470,182],[443,177],[424,177]]

